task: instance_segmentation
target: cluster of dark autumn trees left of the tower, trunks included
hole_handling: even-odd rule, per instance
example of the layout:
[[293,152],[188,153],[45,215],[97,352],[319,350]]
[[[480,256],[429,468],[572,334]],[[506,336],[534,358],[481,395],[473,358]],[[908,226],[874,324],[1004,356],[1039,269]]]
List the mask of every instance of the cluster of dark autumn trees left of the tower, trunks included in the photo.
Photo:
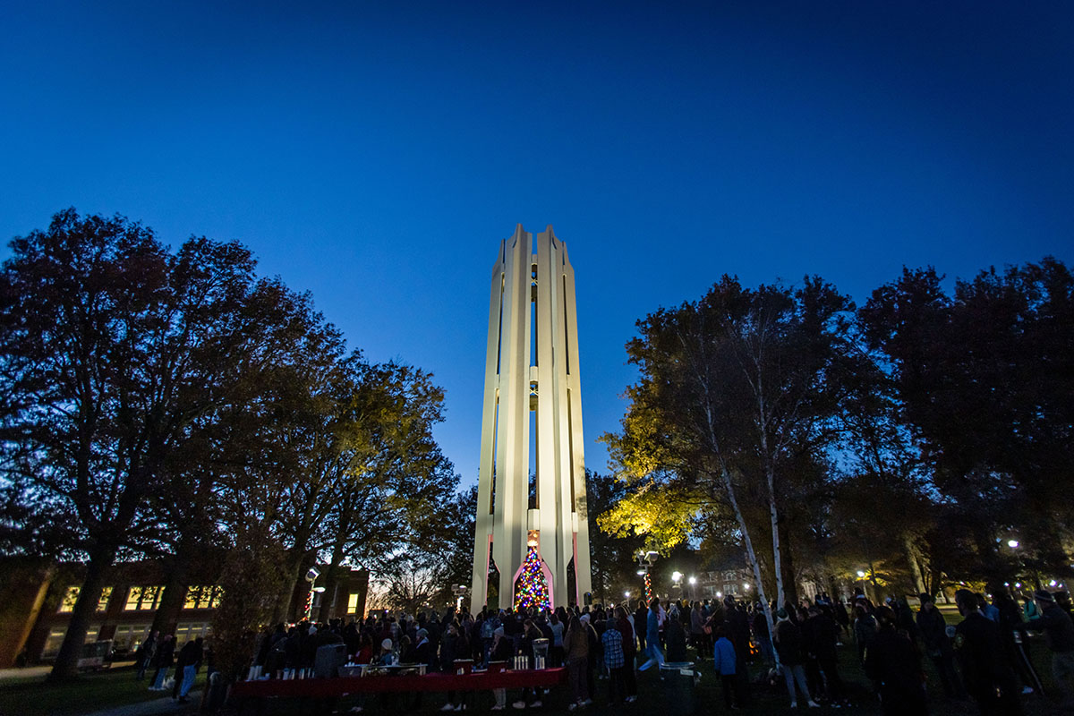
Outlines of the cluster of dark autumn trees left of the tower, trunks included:
[[458,485],[432,437],[442,391],[348,353],[245,247],[191,237],[173,251],[137,222],[74,209],[11,247],[0,544],[87,566],[55,676],[74,673],[117,560],[170,560],[166,619],[206,546],[280,555],[259,579],[286,605],[279,585],[306,562],[375,566],[437,528],[413,515]]

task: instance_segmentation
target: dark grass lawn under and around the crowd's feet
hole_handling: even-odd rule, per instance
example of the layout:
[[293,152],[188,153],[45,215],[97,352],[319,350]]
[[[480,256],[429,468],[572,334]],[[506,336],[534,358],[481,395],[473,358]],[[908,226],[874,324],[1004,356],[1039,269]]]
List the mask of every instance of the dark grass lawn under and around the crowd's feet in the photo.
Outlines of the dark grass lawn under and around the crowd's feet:
[[[1037,672],[1044,681],[1045,688],[1053,688],[1050,654],[1044,644],[1043,638],[1034,637],[1030,640],[1031,654],[1037,667]],[[694,652],[691,651],[694,656]],[[930,713],[941,713],[944,716],[970,716],[976,714],[976,707],[969,701],[949,700],[944,698],[940,689],[939,680],[932,668],[931,661],[925,660],[925,672],[928,676],[929,686],[929,710]],[[813,714],[880,714],[880,704],[871,693],[871,687],[861,667],[857,663],[857,649],[853,643],[847,643],[840,649],[840,674],[846,683],[851,697],[852,706],[836,710],[824,706],[822,708],[808,710]],[[720,678],[712,671],[711,659],[700,661],[698,670],[701,672],[700,683],[693,689],[693,713],[713,714],[725,711],[723,696],[720,687]],[[754,667],[751,674],[756,677],[759,668]],[[596,695],[594,704],[583,713],[595,714],[638,714],[639,716],[680,716],[691,713],[688,701],[690,695],[677,690],[673,682],[659,680],[655,670],[650,670],[638,674],[638,701],[630,705],[611,706],[608,701],[608,682],[598,680],[596,682]],[[194,686],[195,690],[201,689],[204,683],[204,673],[199,674],[199,681]],[[87,674],[71,684],[54,685],[44,681],[44,677],[30,680],[6,680],[0,684],[0,716],[73,716],[76,714],[88,714],[104,708],[111,708],[125,704],[135,704],[150,700],[161,700],[158,692],[148,691],[146,682],[135,682],[132,669],[118,669],[112,672],[98,674]],[[508,691],[507,712],[514,713],[510,707],[510,702],[519,697],[517,690]],[[493,704],[490,692],[476,692],[470,695],[469,712],[488,712]],[[527,710],[529,713],[542,714],[567,714],[567,689],[566,687],[554,689],[545,700],[545,706],[540,710]],[[397,695],[389,699],[380,697],[368,697],[364,703],[357,698],[349,697],[332,704],[332,708],[346,714],[354,705],[362,703],[365,713],[373,714],[437,714],[445,703],[445,695],[425,693],[423,703],[419,708],[412,708],[412,695]],[[191,704],[186,710],[171,704],[170,699],[161,700],[161,708],[155,713],[191,713],[195,711],[197,704]],[[266,704],[265,716],[277,715],[305,715],[317,713],[318,704],[303,702],[300,700],[271,700]],[[1055,701],[1036,695],[1025,697],[1022,707],[1026,713],[1034,716],[1043,714],[1059,713]],[[668,710],[671,713],[667,713]],[[806,712],[807,710],[801,710]],[[505,712],[505,713],[507,713]],[[251,713],[248,711],[247,713]],[[579,713],[579,712],[575,712]],[[740,714],[792,714],[789,699],[786,688],[782,682],[778,687],[772,688],[765,684],[751,685],[750,703],[737,712]]]

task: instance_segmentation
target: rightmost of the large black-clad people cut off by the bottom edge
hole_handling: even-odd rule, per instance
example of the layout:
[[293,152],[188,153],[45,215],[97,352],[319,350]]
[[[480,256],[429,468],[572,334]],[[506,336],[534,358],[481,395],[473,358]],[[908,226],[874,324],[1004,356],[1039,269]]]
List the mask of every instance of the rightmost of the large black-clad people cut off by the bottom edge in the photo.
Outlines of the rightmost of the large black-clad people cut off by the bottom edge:
[[967,692],[982,714],[1020,714],[1014,672],[1003,658],[999,625],[982,613],[981,600],[969,589],[956,591],[955,603],[962,615],[954,628],[955,655]]

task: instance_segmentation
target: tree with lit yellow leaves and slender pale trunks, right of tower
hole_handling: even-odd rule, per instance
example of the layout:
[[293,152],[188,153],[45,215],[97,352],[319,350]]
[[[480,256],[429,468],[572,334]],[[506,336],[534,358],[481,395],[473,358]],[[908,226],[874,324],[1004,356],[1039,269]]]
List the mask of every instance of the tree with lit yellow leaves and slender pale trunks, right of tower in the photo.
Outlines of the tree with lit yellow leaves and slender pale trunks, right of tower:
[[[767,512],[775,596],[784,601],[780,524],[790,466],[833,439],[842,385],[851,369],[844,315],[850,301],[819,279],[797,290],[743,289],[724,277],[696,303],[651,313],[627,345],[641,377],[629,388],[622,430],[605,436],[624,474],[648,480],[648,497],[619,518],[637,527],[684,531],[684,517],[726,506],[735,515],[758,597],[771,610],[754,547]],[[632,514],[633,512],[633,514]],[[751,518],[753,517],[753,518]],[[676,527],[678,521],[678,527]]]

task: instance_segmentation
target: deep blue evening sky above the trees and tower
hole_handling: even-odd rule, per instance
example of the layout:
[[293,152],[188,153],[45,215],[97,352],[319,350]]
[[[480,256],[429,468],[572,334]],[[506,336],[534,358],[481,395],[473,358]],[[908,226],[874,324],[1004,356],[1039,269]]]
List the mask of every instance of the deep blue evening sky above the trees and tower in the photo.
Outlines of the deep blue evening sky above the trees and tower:
[[1058,1],[5,2],[0,239],[73,205],[247,244],[435,374],[471,483],[498,242],[552,223],[603,470],[634,322],[723,273],[1072,263],[1072,38]]

